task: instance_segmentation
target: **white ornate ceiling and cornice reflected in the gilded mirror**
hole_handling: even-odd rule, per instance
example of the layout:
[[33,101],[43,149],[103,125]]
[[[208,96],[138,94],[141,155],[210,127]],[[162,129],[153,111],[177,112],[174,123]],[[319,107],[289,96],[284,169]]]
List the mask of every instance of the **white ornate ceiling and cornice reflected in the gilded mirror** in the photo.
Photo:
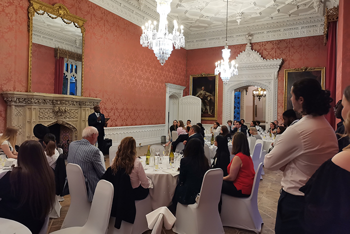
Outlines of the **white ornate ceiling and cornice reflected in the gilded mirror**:
[[52,19],[46,13],[33,17],[33,43],[63,48],[81,53],[80,28],[66,24],[61,18]]

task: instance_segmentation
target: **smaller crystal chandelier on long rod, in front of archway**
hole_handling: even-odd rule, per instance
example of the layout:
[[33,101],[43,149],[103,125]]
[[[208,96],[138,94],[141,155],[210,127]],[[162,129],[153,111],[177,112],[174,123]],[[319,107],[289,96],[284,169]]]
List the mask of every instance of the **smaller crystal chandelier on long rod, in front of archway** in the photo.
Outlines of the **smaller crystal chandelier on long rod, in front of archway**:
[[237,64],[234,64],[234,60],[231,62],[228,61],[230,56],[230,49],[227,46],[227,13],[228,13],[228,0],[226,5],[226,45],[222,49],[222,58],[221,61],[215,62],[215,75],[220,73],[221,79],[224,85],[227,85],[228,80],[231,76],[238,74]]

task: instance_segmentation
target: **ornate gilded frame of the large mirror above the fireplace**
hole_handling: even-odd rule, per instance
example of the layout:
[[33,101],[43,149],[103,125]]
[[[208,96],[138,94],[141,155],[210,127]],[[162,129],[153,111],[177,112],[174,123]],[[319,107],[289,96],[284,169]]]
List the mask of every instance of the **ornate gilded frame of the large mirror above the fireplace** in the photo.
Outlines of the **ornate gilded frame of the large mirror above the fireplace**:
[[[60,17],[66,24],[73,23],[76,28],[80,28],[82,34],[81,44],[81,96],[83,96],[83,84],[84,84],[84,44],[85,44],[85,27],[84,23],[86,19],[79,17],[69,12],[68,8],[61,4],[56,3],[54,5],[47,4],[40,0],[29,0],[28,6],[28,83],[27,92],[31,92],[31,60],[32,60],[32,39],[33,39],[33,17],[38,11],[44,11],[43,13],[51,14],[49,17]],[[43,14],[38,13],[38,14]],[[53,16],[52,16],[53,15]]]

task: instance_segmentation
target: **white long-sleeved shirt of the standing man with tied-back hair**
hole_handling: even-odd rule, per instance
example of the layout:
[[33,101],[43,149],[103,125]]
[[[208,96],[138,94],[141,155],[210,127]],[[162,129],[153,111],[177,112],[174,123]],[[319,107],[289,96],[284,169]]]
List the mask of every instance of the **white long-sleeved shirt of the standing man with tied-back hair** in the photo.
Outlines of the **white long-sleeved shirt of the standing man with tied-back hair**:
[[273,150],[265,155],[264,166],[278,170],[286,165],[281,180],[283,190],[304,195],[299,188],[338,150],[334,130],[324,116],[308,114],[285,129]]

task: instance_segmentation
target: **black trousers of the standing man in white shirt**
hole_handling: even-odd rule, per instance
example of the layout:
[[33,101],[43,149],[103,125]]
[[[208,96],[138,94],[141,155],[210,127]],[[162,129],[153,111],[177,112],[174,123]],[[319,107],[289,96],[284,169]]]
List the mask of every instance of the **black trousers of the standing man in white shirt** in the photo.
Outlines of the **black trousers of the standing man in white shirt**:
[[303,209],[304,196],[293,195],[281,189],[274,232],[276,234],[305,233],[299,220],[302,217]]

